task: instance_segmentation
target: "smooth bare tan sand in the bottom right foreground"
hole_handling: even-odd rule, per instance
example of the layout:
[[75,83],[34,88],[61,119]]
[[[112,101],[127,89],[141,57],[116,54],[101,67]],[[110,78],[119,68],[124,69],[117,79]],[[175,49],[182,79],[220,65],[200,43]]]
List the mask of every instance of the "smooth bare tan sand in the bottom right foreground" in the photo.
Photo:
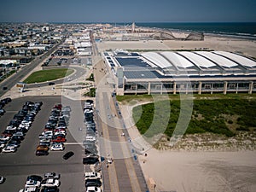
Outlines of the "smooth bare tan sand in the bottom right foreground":
[[256,191],[256,153],[148,150],[143,173],[159,191]]

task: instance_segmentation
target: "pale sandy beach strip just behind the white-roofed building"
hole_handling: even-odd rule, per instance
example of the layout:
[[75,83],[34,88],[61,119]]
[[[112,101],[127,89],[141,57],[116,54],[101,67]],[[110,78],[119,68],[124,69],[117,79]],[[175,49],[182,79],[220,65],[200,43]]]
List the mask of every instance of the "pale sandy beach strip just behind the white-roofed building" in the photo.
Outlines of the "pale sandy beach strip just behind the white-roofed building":
[[238,38],[205,36],[204,41],[102,41],[97,44],[99,51],[106,49],[214,49],[238,52],[256,57],[256,41]]

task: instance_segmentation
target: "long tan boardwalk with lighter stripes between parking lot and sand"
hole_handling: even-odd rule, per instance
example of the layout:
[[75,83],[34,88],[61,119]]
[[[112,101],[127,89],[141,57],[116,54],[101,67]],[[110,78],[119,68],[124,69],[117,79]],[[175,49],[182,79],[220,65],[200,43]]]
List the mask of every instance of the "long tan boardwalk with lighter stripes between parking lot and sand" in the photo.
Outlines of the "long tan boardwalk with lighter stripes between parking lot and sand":
[[[147,191],[147,184],[139,166],[137,154],[132,153],[124,121],[116,108],[114,97],[111,96],[113,86],[107,83],[110,75],[102,61],[94,66],[94,74],[97,89],[97,123],[102,128],[101,155],[113,158],[113,163],[108,166],[108,181],[103,181],[104,191]],[[103,170],[103,175],[106,175],[106,172]]]

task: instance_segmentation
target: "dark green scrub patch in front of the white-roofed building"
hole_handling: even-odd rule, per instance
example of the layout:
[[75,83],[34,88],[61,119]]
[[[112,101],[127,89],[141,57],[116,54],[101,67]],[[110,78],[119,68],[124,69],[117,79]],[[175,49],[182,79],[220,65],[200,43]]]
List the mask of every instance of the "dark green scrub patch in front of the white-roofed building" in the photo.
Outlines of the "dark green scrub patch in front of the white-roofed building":
[[[191,106],[191,102],[184,102],[185,110],[183,111],[185,113],[187,113],[187,109],[189,111],[189,108],[192,107],[192,115],[189,114],[188,116],[189,126],[186,134],[212,132],[232,137],[236,135],[237,131],[256,130],[256,100],[254,99],[195,99],[192,104],[193,106]],[[160,110],[156,110],[157,113],[154,114],[155,106]],[[163,114],[169,113],[167,110],[170,109],[170,106],[171,113],[168,117],[168,123],[164,125]],[[137,128],[146,137],[153,137],[162,132],[166,136],[172,137],[177,119],[180,118],[179,114],[180,100],[178,99],[161,101],[157,104],[149,103],[142,107],[133,108],[133,119],[137,122]],[[152,129],[148,131],[149,126]]]

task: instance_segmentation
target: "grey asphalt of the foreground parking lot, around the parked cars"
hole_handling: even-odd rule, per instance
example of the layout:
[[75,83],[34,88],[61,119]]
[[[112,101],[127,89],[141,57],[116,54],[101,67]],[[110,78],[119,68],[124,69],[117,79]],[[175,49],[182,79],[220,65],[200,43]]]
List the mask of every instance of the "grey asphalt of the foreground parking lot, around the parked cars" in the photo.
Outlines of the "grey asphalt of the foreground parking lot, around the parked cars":
[[[17,152],[0,154],[0,175],[6,177],[6,181],[0,185],[0,191],[17,192],[24,188],[28,175],[37,174],[42,176],[45,172],[61,174],[60,191],[84,191],[84,165],[82,164],[84,148],[78,143],[78,139],[74,139],[73,134],[70,134],[70,131],[78,130],[78,127],[74,127],[74,125],[79,126],[79,122],[74,119],[78,110],[73,110],[71,106],[72,112],[65,150],[50,151],[47,156],[35,155],[38,136],[44,131],[44,125],[55,103],[63,102],[61,96],[31,96],[14,99],[5,106],[6,113],[0,118],[0,131],[4,131],[15,113],[28,101],[43,102],[43,105]],[[79,105],[77,108],[79,108]],[[74,155],[68,160],[63,160],[63,154],[68,151],[73,151]]]

